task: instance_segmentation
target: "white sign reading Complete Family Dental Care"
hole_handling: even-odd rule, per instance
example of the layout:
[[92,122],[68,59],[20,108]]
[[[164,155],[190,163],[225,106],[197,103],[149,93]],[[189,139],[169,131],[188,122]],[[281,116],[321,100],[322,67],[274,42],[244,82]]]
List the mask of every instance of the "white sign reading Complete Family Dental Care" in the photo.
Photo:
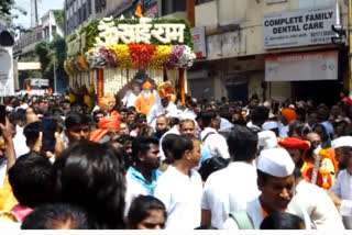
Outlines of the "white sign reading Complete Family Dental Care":
[[330,44],[334,32],[336,7],[298,9],[263,16],[265,49]]

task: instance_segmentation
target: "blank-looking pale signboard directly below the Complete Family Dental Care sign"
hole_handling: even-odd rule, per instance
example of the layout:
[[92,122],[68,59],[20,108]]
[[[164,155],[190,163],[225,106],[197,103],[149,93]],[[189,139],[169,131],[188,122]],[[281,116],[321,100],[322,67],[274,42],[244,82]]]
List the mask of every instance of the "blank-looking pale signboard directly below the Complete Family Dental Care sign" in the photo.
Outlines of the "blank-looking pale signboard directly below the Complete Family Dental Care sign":
[[328,51],[267,56],[265,58],[265,80],[337,80],[338,55],[338,51]]

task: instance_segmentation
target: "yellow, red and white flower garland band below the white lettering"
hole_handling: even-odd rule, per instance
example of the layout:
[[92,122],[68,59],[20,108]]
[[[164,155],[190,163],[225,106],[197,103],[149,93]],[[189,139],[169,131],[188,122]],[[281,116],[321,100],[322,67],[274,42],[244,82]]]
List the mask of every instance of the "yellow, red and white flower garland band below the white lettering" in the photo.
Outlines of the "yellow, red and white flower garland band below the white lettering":
[[189,68],[196,54],[187,45],[119,44],[94,47],[84,56],[67,59],[66,72],[87,71],[96,68]]

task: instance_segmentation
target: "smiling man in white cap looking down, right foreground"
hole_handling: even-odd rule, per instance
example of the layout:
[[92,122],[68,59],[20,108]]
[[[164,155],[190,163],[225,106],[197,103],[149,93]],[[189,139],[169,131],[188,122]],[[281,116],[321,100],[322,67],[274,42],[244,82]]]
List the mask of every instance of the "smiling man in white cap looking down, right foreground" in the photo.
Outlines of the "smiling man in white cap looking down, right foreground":
[[292,202],[295,191],[294,170],[295,164],[287,150],[262,150],[257,161],[257,187],[262,193],[248,203],[245,211],[231,214],[224,228],[258,230],[262,221],[275,212],[295,214],[305,221],[306,228],[310,228],[307,212]]

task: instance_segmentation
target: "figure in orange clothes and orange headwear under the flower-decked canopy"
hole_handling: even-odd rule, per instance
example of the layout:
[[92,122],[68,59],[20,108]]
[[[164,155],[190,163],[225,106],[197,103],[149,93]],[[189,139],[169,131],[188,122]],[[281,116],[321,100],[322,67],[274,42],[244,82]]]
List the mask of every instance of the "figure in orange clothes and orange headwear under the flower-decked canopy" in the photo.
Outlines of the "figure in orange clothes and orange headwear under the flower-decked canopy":
[[152,107],[156,102],[156,97],[153,93],[153,85],[147,80],[142,85],[143,91],[135,101],[135,110],[139,113],[150,114]]

